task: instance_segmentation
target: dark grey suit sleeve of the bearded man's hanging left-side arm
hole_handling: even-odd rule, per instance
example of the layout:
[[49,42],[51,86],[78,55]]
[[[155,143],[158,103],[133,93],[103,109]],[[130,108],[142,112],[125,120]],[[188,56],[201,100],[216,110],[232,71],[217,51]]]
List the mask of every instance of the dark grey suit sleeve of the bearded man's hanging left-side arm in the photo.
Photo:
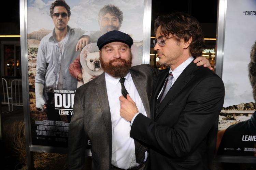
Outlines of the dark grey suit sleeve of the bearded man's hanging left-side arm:
[[84,108],[78,91],[74,96],[73,112],[68,134],[68,169],[82,170],[88,137],[83,127]]

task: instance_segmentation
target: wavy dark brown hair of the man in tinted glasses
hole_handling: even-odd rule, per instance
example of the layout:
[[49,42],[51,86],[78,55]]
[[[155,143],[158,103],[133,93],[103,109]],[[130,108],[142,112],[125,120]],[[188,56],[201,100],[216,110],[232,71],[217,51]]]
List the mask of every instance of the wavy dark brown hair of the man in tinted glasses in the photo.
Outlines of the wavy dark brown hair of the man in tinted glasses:
[[175,12],[169,15],[157,17],[155,20],[155,33],[161,26],[160,33],[168,37],[170,34],[175,35],[174,39],[180,42],[184,38],[188,42],[190,37],[192,41],[189,45],[189,51],[192,56],[201,56],[204,49],[203,32],[196,18],[184,12]]

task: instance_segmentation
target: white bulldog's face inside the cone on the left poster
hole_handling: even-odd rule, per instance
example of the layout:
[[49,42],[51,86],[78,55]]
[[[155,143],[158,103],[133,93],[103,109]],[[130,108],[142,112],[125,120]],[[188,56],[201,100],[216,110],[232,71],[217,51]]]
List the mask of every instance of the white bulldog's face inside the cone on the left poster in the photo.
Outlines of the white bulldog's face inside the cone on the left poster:
[[86,64],[89,69],[92,71],[98,71],[101,69],[100,65],[100,53],[99,52],[89,52],[87,50],[84,50],[84,56],[86,57]]

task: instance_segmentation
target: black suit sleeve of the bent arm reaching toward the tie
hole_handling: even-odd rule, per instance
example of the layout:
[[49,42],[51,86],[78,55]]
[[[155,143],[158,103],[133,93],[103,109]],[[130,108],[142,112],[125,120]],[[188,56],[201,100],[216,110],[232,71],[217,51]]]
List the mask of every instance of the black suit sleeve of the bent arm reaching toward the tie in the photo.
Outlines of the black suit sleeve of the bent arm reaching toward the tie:
[[[207,136],[222,109],[224,93],[224,84],[219,77],[205,78],[189,94],[173,127],[162,126],[138,114],[130,136],[171,157],[184,157]],[[170,111],[170,119],[171,114]]]

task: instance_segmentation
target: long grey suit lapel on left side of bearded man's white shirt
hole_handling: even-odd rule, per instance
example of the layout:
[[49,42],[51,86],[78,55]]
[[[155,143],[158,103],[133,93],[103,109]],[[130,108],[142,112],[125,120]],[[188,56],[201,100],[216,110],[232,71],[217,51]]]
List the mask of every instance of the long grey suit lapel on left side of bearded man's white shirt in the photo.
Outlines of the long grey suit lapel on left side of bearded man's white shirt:
[[108,93],[106,90],[106,81],[105,74],[101,74],[95,81],[96,93],[100,104],[101,113],[105,122],[106,130],[109,137],[109,149],[110,149],[110,158],[112,154],[112,122],[111,122],[111,113],[109,108]]

